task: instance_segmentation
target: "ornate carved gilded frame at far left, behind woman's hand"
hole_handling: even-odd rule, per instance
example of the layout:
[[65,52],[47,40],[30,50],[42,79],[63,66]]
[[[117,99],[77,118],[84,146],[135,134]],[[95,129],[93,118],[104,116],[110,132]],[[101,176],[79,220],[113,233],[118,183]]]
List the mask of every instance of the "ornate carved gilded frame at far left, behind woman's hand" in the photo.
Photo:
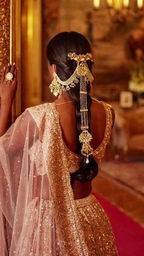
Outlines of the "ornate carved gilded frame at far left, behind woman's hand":
[[18,72],[18,90],[12,108],[12,122],[21,113],[21,1],[3,0],[0,2],[0,68],[16,62]]

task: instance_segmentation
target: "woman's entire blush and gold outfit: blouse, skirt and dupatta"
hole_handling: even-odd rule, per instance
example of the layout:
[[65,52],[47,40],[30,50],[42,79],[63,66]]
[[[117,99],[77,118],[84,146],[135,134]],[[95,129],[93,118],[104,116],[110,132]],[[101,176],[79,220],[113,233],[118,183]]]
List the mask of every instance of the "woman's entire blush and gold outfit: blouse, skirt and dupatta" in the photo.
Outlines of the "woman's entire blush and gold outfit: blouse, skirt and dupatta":
[[[106,108],[103,158],[112,128]],[[62,137],[54,103],[27,109],[0,138],[0,255],[117,255],[104,210],[92,195],[74,200],[70,173],[81,163]]]

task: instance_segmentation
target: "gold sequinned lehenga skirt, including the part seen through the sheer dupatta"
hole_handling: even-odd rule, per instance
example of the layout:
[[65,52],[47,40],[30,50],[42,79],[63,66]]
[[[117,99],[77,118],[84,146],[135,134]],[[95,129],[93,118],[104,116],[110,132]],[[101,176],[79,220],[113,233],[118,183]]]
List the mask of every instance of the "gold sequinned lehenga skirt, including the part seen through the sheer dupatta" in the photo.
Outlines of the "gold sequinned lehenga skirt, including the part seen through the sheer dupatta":
[[[81,221],[81,227],[84,230],[85,242],[87,243],[89,254],[88,256],[116,256],[117,248],[115,246],[115,238],[112,232],[109,219],[101,205],[95,199],[95,196],[90,195],[84,199],[74,200],[76,203],[77,214]],[[42,200],[41,203],[41,218],[40,218],[40,241],[38,246],[38,256],[61,255],[59,253],[59,243],[57,236],[55,238],[56,251],[52,253],[52,244],[49,241],[49,220],[51,220],[51,203],[48,200]],[[32,200],[27,207],[27,212],[24,217],[23,232],[21,233],[20,241],[23,241],[22,248],[20,241],[16,250],[17,255],[37,255],[34,252],[35,233],[37,233],[38,212],[40,210],[40,202],[38,197]],[[49,248],[51,250],[49,251]]]

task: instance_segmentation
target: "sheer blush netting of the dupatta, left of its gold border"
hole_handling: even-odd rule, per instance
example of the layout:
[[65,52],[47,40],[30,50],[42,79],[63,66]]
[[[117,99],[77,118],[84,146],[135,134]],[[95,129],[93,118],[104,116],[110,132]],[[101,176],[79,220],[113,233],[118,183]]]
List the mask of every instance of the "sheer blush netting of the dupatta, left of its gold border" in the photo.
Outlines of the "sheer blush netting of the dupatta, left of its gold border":
[[39,137],[25,111],[0,139],[1,256],[44,255],[44,249],[46,255],[57,255],[59,250]]

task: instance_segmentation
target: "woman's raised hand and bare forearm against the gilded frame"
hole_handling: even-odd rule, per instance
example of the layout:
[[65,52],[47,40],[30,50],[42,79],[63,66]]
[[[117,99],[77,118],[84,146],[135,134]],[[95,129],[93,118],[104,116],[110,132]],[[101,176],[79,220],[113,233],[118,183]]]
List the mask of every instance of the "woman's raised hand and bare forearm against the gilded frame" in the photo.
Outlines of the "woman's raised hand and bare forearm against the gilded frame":
[[[7,80],[7,73],[12,73],[12,80]],[[1,97],[1,109],[0,109],[0,136],[2,136],[9,128],[9,120],[12,109],[13,98],[15,97],[17,87],[17,70],[15,63],[10,64],[2,70],[1,84],[0,84],[0,97]]]

